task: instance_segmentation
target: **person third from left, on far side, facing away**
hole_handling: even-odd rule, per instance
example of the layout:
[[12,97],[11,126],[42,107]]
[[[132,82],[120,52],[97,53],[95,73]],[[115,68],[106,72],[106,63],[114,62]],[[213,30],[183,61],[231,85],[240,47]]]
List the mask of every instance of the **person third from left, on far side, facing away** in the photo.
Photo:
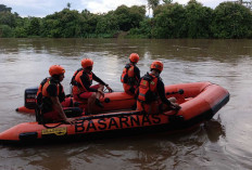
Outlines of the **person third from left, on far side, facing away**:
[[129,63],[126,64],[121,76],[121,82],[123,82],[124,91],[131,95],[135,94],[135,90],[140,79],[140,70],[136,66],[138,61],[139,55],[137,53],[131,53],[129,55]]

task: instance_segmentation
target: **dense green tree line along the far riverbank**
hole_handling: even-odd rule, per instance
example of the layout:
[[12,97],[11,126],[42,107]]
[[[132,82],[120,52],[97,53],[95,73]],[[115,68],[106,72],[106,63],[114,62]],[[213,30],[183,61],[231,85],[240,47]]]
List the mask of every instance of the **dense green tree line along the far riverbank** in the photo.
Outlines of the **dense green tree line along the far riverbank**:
[[108,13],[71,10],[71,4],[46,17],[21,17],[0,4],[1,38],[252,38],[252,12],[245,6],[223,2],[215,9],[196,0],[186,5],[172,0],[149,0],[146,5],[121,5]]

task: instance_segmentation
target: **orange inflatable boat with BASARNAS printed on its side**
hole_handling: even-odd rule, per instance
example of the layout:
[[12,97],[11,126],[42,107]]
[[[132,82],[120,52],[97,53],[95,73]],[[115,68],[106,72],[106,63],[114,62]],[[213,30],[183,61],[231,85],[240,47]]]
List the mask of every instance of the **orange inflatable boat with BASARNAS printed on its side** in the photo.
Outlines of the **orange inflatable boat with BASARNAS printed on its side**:
[[[182,94],[176,92],[184,91]],[[194,82],[166,86],[167,97],[176,96],[181,108],[178,112],[166,110],[163,114],[149,115],[136,110],[106,112],[77,118],[74,125],[38,122],[20,123],[2,133],[1,142],[28,142],[50,140],[88,139],[90,136],[117,136],[128,133],[151,133],[153,131],[174,132],[188,130],[210,120],[228,101],[229,93],[211,82]],[[168,93],[173,92],[173,93]],[[111,96],[110,96],[111,95]],[[130,107],[133,97],[119,101],[115,94],[108,94],[103,104],[113,107]],[[113,97],[112,97],[113,96]],[[115,105],[114,105],[115,104]],[[112,106],[113,105],[113,106]]]

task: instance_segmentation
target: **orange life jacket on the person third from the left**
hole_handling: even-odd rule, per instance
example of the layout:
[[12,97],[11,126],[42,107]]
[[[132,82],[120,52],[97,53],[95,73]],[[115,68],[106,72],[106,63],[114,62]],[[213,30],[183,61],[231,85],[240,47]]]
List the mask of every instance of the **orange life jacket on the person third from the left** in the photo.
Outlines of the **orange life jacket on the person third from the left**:
[[123,74],[121,76],[121,82],[127,83],[129,86],[135,86],[137,84],[137,77],[134,73],[135,66],[129,63],[124,67]]

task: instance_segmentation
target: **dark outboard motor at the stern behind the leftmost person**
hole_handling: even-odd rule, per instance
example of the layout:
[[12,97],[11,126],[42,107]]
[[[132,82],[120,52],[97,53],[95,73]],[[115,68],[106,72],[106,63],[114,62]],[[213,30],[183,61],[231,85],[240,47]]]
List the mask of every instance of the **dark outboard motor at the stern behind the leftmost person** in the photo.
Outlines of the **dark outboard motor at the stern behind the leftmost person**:
[[29,109],[36,108],[36,95],[38,87],[25,89],[25,107]]

